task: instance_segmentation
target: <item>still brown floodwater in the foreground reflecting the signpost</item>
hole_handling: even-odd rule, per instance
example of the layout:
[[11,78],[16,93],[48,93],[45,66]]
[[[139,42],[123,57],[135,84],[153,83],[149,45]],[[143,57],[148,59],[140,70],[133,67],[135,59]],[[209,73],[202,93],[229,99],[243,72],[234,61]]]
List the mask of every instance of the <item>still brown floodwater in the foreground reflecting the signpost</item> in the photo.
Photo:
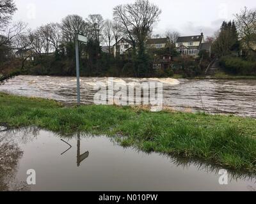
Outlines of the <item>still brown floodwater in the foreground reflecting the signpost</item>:
[[210,164],[35,127],[0,131],[0,161],[0,191],[256,191],[252,176],[229,172],[220,185],[220,168]]

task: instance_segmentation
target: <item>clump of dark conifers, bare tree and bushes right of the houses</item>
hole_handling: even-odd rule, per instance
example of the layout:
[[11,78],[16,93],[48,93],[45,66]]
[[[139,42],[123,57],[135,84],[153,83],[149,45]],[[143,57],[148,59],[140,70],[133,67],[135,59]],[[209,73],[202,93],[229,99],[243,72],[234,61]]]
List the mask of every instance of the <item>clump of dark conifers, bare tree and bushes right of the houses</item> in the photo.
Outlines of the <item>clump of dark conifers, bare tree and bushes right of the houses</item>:
[[227,74],[256,76],[256,10],[244,8],[236,22],[223,22],[212,50]]

